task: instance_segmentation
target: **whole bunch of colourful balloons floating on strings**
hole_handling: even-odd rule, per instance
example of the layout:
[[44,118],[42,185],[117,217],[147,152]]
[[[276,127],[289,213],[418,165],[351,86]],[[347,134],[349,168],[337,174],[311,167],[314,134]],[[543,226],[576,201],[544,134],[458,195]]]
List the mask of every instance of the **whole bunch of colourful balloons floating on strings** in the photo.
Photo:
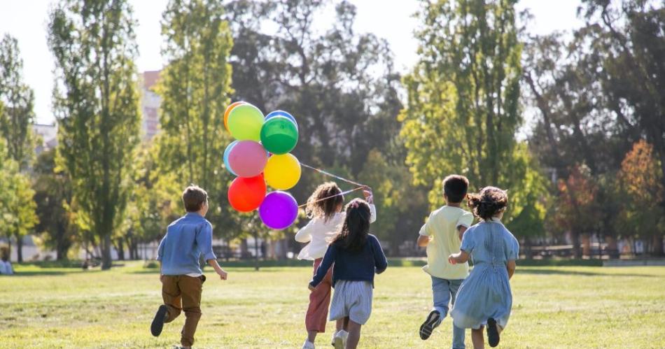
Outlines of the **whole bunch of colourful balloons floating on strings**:
[[[295,117],[286,111],[263,116],[255,106],[238,101],[226,108],[224,127],[236,139],[224,150],[226,169],[237,176],[228,199],[239,212],[258,208],[267,227],[284,229],[297,218],[297,202],[288,192],[300,180],[300,162],[289,152],[298,141]],[[267,186],[274,188],[267,192]]]

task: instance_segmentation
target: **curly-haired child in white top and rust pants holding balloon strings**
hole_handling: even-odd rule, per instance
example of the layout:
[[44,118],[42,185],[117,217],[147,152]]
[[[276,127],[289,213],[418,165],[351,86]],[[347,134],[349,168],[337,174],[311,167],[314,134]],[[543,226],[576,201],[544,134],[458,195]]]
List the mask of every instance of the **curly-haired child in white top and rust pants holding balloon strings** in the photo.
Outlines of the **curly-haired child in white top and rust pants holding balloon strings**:
[[[377,218],[376,208],[372,204],[372,192],[369,188],[363,191],[365,200],[369,202],[371,218],[374,222]],[[314,261],[314,273],[321,264],[328,243],[332,241],[344,223],[346,213],[344,208],[344,196],[342,190],[336,183],[328,182],[319,185],[307,200],[307,215],[311,218],[309,223],[295,234],[295,241],[300,243],[309,242],[298,254],[298,259],[309,259]],[[330,306],[330,287],[332,286],[332,270],[325,275],[321,285],[309,294],[309,307],[305,315],[305,328],[307,329],[307,340],[304,341],[303,349],[313,349],[316,334],[325,332],[325,322],[328,321],[328,306]],[[344,340],[347,336],[342,328],[342,320],[337,322],[332,342],[339,337]]]

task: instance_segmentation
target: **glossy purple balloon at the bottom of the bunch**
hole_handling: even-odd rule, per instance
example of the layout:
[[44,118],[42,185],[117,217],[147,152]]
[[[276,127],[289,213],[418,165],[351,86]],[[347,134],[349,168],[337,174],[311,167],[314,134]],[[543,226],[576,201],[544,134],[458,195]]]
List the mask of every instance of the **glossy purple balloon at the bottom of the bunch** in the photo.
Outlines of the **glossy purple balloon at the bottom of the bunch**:
[[269,192],[258,208],[258,215],[270,229],[284,229],[295,222],[298,204],[288,192]]

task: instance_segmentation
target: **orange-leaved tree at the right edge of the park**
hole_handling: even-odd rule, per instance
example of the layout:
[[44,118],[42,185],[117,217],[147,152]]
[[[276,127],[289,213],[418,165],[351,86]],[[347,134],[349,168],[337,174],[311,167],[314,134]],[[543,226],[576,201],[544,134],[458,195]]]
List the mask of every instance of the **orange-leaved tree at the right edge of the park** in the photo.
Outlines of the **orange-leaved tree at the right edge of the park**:
[[654,255],[663,255],[665,210],[662,202],[665,190],[653,145],[638,141],[621,162],[619,183],[624,190],[623,227],[626,232],[640,238],[651,239]]

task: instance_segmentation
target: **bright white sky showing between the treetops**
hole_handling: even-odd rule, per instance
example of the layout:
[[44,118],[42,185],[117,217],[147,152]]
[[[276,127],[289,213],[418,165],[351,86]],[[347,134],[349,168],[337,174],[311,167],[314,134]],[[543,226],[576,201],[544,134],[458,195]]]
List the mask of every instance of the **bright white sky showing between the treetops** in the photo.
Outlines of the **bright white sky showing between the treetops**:
[[[357,7],[356,31],[371,32],[390,43],[395,67],[406,72],[417,60],[417,41],[413,31],[418,21],[412,16],[417,0],[351,0]],[[53,0],[0,0],[0,35],[18,39],[23,59],[25,82],[35,92],[36,122],[50,124],[54,60],[46,43],[47,16]],[[130,0],[134,7],[139,57],[139,71],[159,70],[164,62],[160,55],[162,38],[160,20],[167,0]],[[528,8],[533,20],[528,30],[533,34],[567,31],[582,25],[576,10],[580,0],[521,0],[517,10]],[[332,22],[332,6],[316,17],[315,27],[325,29]]]

